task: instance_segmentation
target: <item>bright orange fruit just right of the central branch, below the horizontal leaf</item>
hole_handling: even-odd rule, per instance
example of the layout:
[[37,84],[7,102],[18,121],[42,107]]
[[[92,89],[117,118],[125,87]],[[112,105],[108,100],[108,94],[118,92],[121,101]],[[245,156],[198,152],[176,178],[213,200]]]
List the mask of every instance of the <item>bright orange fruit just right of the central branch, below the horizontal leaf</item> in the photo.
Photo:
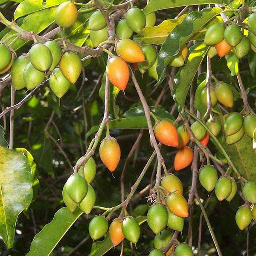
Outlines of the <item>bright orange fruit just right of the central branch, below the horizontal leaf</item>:
[[169,121],[161,120],[154,125],[154,134],[160,143],[166,146],[177,147],[179,145],[176,127]]

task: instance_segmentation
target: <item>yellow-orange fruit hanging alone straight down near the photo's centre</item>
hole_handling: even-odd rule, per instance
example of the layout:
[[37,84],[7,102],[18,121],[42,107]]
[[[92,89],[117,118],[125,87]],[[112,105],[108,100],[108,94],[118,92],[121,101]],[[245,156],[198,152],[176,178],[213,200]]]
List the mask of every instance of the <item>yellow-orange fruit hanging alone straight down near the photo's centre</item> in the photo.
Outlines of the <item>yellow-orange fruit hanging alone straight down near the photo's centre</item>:
[[116,169],[121,157],[121,150],[116,139],[106,137],[102,140],[99,146],[99,157],[111,172]]

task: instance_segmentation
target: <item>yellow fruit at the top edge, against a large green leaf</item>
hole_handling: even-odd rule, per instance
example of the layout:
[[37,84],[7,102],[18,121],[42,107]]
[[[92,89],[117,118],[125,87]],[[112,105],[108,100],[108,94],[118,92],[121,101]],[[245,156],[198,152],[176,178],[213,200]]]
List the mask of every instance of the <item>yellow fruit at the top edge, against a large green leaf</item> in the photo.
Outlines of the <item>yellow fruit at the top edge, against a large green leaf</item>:
[[61,3],[55,12],[55,22],[62,28],[70,28],[74,25],[77,19],[76,5],[67,1]]

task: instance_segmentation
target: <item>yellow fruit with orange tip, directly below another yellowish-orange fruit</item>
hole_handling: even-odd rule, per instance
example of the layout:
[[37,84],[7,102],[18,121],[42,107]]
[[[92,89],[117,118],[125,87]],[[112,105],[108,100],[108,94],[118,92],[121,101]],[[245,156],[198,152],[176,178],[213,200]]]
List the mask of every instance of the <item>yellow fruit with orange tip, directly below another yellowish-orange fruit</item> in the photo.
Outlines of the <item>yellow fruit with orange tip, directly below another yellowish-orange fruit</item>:
[[189,216],[189,208],[183,195],[172,193],[166,197],[168,209],[176,216],[186,218]]

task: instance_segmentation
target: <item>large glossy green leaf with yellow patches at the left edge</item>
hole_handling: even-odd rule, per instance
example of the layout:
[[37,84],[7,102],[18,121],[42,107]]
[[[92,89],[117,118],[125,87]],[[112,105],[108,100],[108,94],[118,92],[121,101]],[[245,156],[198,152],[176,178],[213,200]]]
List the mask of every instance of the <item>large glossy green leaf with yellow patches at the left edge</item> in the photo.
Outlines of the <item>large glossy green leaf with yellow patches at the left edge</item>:
[[33,175],[23,153],[0,146],[0,236],[14,241],[17,217],[32,200]]

